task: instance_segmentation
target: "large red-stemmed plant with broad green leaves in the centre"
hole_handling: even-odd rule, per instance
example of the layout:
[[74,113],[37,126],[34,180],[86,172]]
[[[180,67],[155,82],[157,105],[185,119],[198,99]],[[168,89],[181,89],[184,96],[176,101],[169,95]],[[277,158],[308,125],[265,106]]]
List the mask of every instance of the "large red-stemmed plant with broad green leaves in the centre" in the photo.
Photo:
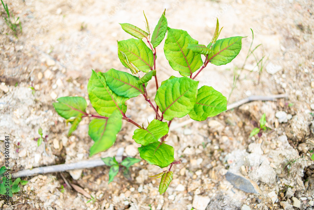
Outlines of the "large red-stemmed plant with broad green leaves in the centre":
[[[140,157],[160,168],[171,165],[161,174],[159,189],[161,194],[165,192],[172,179],[171,167],[180,163],[174,161],[174,148],[165,143],[171,121],[186,115],[202,121],[226,110],[226,97],[213,87],[198,87],[198,81],[195,79],[208,63],[214,65],[230,63],[240,52],[243,37],[218,39],[221,29],[219,30],[217,19],[213,38],[208,45],[201,45],[187,31],[168,27],[165,11],[152,34],[146,16],[145,20],[146,31],[128,23],[120,24],[123,30],[137,38],[117,42],[118,57],[122,65],[130,69],[132,74],[116,69],[107,72],[92,70],[87,91],[89,100],[99,115],[86,112],[87,102],[83,97],[61,97],[53,106],[60,116],[72,124],[68,135],[77,128],[82,118],[94,118],[89,123],[89,136],[94,141],[90,148],[90,156],[105,151],[114,144],[122,120],[135,125],[138,129],[134,131],[133,139],[142,145],[138,147]],[[178,71],[182,77],[171,76],[159,86],[157,78],[162,72],[156,69],[156,47],[165,36],[165,57],[170,67]],[[146,89],[152,78],[155,80],[157,90],[155,96],[149,96]],[[155,119],[147,127],[143,126],[143,122],[137,123],[126,115],[125,102],[139,95],[144,97],[155,112]],[[157,106],[150,97],[154,98]],[[118,171],[118,165],[114,160],[111,160],[110,164],[113,178],[113,174]]]

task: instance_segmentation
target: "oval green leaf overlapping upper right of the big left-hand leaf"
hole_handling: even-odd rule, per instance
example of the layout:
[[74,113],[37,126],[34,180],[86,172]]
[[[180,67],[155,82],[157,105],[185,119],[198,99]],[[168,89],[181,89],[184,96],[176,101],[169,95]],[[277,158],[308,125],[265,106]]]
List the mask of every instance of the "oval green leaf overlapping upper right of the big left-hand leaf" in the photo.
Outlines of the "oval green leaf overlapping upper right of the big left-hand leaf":
[[139,79],[136,76],[116,69],[110,69],[104,75],[107,85],[118,96],[132,98],[141,93],[145,94],[144,88],[138,84]]

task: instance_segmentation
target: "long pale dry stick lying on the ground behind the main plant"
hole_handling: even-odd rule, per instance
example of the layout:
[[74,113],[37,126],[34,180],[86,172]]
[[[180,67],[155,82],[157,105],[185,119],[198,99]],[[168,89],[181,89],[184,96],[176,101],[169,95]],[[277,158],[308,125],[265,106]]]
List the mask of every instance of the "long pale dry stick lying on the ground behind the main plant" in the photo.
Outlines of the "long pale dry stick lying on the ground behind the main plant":
[[[250,96],[250,97],[242,99],[238,102],[230,104],[229,106],[227,106],[227,110],[239,107],[242,104],[252,102],[252,101],[274,101],[277,98],[284,98],[284,97],[288,97],[288,95],[287,94],[280,94],[280,95],[274,95],[274,96]],[[175,126],[171,126],[169,128],[169,131],[175,130],[176,128],[182,127],[182,126],[190,124],[192,122],[194,122],[194,120],[188,119],[182,123],[176,124]],[[122,156],[122,154],[120,154],[120,153],[117,154],[117,156]],[[59,165],[52,165],[52,166],[43,166],[43,167],[38,167],[38,168],[34,168],[34,169],[21,170],[21,171],[18,171],[16,173],[13,173],[12,178],[33,176],[36,174],[63,172],[63,171],[75,170],[75,169],[87,169],[87,168],[94,168],[94,167],[104,166],[104,165],[105,165],[105,163],[101,159],[84,160],[84,161],[80,161],[77,163],[59,164]]]

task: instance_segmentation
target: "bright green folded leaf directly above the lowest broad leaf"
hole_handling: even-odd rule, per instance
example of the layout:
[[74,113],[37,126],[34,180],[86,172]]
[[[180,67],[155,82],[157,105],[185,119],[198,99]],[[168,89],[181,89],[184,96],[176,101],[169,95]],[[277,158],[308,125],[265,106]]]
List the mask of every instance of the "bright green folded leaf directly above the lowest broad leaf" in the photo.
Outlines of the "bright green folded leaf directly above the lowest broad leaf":
[[134,130],[133,139],[136,143],[143,146],[149,145],[155,141],[158,141],[161,137],[166,135],[169,131],[168,124],[166,122],[161,122],[154,119],[149,123],[146,129],[136,129]]

